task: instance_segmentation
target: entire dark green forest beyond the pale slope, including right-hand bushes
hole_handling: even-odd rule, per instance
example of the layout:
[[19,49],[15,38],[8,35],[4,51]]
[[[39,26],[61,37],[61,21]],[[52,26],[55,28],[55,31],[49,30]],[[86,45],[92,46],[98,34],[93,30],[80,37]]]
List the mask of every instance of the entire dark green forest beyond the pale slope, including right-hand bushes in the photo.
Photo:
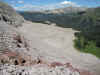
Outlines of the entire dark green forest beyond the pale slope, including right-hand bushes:
[[22,12],[21,15],[30,21],[42,23],[50,21],[56,23],[57,26],[70,27],[80,31],[75,34],[75,47],[82,52],[92,53],[100,57],[100,7],[88,8],[86,11],[70,14]]

